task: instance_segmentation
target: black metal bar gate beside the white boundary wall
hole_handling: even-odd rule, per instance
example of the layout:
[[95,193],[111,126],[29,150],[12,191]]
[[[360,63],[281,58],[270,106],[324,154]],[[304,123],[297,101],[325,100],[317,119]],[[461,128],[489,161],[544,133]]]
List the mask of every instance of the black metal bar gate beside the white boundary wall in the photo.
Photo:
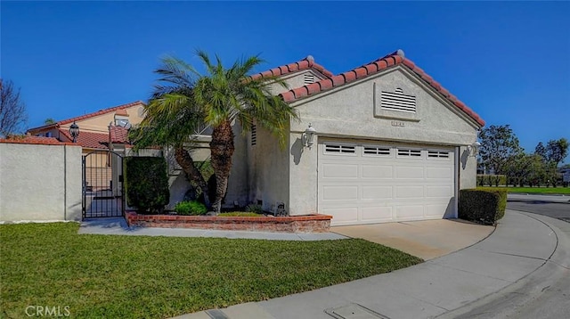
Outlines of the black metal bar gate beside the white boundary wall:
[[114,151],[91,151],[82,163],[83,218],[124,216],[123,157]]

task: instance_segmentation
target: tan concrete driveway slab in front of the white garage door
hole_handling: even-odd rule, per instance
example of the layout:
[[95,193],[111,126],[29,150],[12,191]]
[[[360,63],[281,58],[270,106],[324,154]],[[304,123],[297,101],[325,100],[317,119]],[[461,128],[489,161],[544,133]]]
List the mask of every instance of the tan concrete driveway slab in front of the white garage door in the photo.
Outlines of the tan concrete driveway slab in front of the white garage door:
[[484,240],[494,229],[460,219],[330,227],[331,232],[377,242],[424,260],[471,246]]

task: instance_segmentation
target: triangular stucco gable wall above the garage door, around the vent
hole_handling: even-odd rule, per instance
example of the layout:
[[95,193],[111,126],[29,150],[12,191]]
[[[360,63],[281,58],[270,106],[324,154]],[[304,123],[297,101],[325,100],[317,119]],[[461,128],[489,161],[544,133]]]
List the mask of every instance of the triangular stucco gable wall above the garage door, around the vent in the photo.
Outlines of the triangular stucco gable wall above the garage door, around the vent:
[[[379,108],[380,92],[394,92],[398,87],[403,89],[404,94],[416,96],[417,120],[383,119],[379,115],[375,116],[375,108]],[[292,123],[293,132],[304,131],[308,123],[312,122],[319,135],[444,145],[468,145],[476,140],[477,127],[474,121],[402,67],[382,72],[354,85],[340,86],[294,105],[299,110],[301,121]]]

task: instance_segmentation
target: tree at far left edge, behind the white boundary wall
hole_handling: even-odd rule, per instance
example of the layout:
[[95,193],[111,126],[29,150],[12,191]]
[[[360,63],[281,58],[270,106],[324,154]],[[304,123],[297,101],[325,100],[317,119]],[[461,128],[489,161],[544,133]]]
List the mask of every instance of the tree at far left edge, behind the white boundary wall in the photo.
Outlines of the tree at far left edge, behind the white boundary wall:
[[23,133],[28,120],[26,104],[20,100],[20,88],[0,78],[0,136]]

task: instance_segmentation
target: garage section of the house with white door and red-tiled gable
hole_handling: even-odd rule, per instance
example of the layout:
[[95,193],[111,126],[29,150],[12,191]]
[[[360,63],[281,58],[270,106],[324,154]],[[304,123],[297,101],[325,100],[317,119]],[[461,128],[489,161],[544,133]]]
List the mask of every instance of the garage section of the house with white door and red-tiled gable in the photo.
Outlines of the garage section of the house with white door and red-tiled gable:
[[234,126],[225,205],[327,214],[331,225],[457,217],[485,121],[402,50],[336,76],[308,56],[253,77],[269,75],[289,85],[272,92],[300,120],[285,149],[261,127]]

